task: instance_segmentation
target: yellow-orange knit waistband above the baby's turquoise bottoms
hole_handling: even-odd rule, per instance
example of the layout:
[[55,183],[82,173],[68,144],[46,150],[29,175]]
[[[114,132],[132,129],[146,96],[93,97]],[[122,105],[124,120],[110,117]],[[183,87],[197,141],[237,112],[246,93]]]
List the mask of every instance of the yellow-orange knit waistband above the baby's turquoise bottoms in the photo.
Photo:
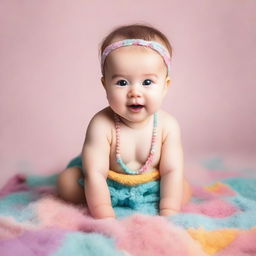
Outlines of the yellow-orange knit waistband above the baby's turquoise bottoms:
[[140,185],[150,181],[158,180],[159,178],[160,173],[158,170],[135,175],[118,173],[111,170],[108,172],[108,179],[117,181],[118,183],[127,186]]

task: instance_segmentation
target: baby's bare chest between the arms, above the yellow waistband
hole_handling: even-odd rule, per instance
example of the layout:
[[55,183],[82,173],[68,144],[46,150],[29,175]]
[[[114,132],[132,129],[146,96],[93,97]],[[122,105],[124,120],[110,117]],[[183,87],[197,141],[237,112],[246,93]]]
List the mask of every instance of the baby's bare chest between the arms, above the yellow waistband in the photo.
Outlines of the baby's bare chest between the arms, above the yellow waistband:
[[[163,126],[161,122],[162,115],[158,114],[158,125],[156,128],[156,142],[154,147],[154,156],[152,164],[147,169],[150,172],[159,169],[161,146],[163,141]],[[113,120],[114,124],[114,120]],[[132,129],[123,123],[120,123],[120,155],[123,162],[131,170],[139,170],[148,159],[153,136],[153,117],[143,128]],[[124,173],[116,161],[116,129],[114,125],[111,128],[110,158],[109,168],[115,172]]]

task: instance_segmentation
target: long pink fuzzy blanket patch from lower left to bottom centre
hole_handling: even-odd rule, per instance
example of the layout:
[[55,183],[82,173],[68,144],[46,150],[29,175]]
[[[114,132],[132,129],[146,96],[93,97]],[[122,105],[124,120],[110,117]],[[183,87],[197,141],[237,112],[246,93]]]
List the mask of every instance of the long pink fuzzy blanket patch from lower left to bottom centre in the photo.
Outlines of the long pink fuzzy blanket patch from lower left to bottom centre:
[[112,237],[119,249],[132,255],[205,256],[199,244],[186,230],[164,217],[133,215],[123,220],[95,220],[87,212],[52,197],[34,204],[43,226],[58,226],[83,232],[97,232]]

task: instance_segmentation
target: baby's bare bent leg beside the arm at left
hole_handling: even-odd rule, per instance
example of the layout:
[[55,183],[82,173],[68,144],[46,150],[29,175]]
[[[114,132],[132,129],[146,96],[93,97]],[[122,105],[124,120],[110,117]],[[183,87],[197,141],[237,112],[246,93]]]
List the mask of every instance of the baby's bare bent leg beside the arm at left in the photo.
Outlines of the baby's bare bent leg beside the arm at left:
[[57,181],[59,197],[71,203],[85,204],[84,188],[78,184],[79,178],[82,177],[82,169],[76,166],[67,168],[60,173]]

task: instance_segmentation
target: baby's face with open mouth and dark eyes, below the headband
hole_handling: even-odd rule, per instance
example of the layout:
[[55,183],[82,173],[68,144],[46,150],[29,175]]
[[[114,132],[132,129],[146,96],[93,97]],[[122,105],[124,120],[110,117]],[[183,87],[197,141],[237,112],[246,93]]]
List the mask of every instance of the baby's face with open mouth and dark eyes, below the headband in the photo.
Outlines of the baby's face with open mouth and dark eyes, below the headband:
[[127,46],[108,55],[102,82],[115,113],[130,122],[143,122],[160,109],[170,78],[156,51]]

